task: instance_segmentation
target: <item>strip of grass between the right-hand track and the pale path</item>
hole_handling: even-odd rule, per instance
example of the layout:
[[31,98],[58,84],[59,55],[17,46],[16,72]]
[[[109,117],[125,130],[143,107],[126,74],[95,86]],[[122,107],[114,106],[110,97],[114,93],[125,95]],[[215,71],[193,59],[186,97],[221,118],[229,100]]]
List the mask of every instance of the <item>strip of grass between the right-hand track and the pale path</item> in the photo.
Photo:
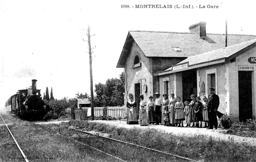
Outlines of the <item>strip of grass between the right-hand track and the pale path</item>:
[[248,143],[236,144],[233,139],[223,141],[204,135],[174,136],[156,129],[125,129],[103,123],[70,121],[66,123],[85,130],[110,134],[110,137],[154,148],[172,154],[204,161],[256,161],[256,147]]

